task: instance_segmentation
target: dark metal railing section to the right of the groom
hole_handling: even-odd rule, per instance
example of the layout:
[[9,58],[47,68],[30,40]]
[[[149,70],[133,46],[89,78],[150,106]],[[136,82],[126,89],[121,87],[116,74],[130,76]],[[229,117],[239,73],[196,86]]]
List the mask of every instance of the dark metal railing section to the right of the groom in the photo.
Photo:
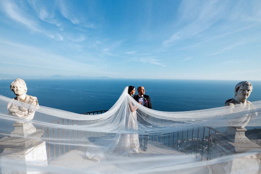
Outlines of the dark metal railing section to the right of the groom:
[[[153,118],[153,122],[156,121]],[[172,120],[158,119],[157,123],[184,123],[175,122]],[[206,133],[208,132],[208,133]],[[160,142],[168,147],[183,152],[183,153],[195,153],[197,160],[209,160],[209,153],[212,151],[211,134],[220,133],[212,127],[208,126],[196,126],[189,129],[184,129],[183,131],[177,131],[172,133],[155,133],[149,137],[153,142]],[[215,143],[215,139],[214,139]]]

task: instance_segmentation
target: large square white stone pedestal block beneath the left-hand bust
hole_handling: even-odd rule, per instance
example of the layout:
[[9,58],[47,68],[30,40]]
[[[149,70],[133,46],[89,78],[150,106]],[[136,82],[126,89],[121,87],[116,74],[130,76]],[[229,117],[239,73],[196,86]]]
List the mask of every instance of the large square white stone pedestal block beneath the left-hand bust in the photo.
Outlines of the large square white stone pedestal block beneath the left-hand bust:
[[0,146],[5,148],[0,154],[2,174],[44,173],[37,170],[39,166],[48,166],[46,142],[39,139],[43,133],[44,130],[36,130],[26,138],[4,137],[0,139]]

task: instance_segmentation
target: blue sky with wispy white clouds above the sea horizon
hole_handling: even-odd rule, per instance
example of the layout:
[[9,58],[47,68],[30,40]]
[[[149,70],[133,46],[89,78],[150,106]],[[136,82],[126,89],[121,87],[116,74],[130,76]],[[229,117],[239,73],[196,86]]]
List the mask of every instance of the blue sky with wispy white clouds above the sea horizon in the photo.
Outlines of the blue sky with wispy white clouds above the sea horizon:
[[261,80],[261,1],[0,1],[0,74]]

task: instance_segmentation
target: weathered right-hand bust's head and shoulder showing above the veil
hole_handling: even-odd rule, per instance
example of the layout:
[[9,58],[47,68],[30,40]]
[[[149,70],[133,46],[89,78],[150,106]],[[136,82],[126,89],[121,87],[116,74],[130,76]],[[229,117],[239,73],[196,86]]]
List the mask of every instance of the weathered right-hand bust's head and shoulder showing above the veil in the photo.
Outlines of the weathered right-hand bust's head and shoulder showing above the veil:
[[253,90],[253,86],[249,81],[241,81],[235,86],[235,97],[228,99],[225,102],[225,106],[231,106],[235,104],[249,103],[247,98],[250,96]]

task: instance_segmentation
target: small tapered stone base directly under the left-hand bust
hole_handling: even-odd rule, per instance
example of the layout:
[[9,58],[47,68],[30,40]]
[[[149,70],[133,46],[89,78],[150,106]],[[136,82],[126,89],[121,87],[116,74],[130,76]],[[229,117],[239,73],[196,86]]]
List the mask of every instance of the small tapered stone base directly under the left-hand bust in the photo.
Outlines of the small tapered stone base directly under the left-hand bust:
[[14,123],[13,126],[14,131],[10,134],[10,137],[26,137],[36,131],[32,123]]

